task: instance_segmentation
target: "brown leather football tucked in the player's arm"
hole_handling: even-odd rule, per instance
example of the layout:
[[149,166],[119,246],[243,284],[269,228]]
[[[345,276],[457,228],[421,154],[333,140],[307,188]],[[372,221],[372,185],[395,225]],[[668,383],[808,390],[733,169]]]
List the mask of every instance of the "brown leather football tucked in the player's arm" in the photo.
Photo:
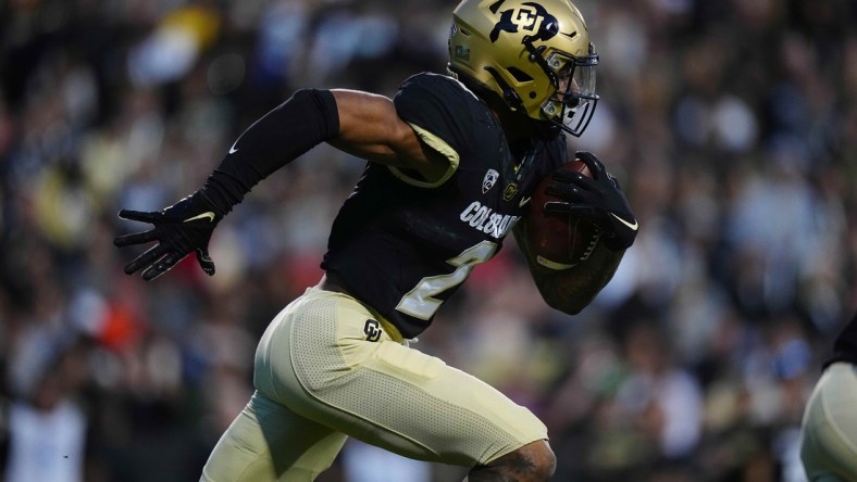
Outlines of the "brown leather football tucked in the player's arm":
[[[592,177],[582,161],[566,163],[559,169],[572,169]],[[569,269],[589,257],[598,244],[600,230],[580,216],[546,214],[545,203],[561,201],[545,192],[549,182],[550,175],[547,175],[533,191],[523,219],[525,231],[539,265],[555,270]]]

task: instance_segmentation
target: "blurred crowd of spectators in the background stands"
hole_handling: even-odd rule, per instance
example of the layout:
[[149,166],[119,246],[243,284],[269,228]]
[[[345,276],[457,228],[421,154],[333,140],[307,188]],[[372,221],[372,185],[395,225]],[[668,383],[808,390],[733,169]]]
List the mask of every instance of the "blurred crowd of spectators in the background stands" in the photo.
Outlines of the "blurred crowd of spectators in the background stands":
[[[156,282],[113,237],[301,87],[445,72],[455,0],[0,2],[0,480],[197,480],[256,342],[321,275],[363,162],[321,145]],[[417,348],[548,424],[558,481],[802,481],[804,403],[857,305],[857,3],[579,0],[591,150],[641,223],[579,316],[506,249]],[[133,250],[131,250],[133,251]],[[463,470],[349,443],[321,480]]]

